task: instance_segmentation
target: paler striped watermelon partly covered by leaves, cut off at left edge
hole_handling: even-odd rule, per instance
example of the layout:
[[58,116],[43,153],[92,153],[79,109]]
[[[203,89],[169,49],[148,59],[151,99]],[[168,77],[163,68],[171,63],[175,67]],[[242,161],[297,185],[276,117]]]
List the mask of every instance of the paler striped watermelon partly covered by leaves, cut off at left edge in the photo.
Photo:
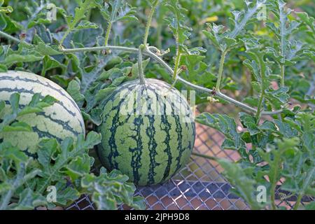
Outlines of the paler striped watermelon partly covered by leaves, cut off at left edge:
[[[85,125],[80,109],[70,95],[59,85],[47,78],[24,71],[7,71],[0,73],[0,100],[8,104],[13,92],[20,93],[20,105],[24,106],[31,101],[35,93],[41,97],[50,95],[58,100],[42,113],[32,113],[20,116],[18,120],[29,124],[34,132],[4,132],[0,140],[10,141],[11,144],[28,149],[33,153],[36,144],[43,138],[55,138],[58,141],[66,137],[76,138],[85,133]],[[0,115],[0,119],[3,114]]]

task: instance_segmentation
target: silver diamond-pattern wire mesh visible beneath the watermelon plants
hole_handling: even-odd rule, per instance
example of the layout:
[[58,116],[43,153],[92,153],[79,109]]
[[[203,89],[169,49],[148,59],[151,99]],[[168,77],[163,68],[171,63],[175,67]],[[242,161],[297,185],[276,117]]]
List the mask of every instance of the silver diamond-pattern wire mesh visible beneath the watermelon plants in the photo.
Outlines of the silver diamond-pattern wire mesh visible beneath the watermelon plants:
[[[220,105],[220,104],[219,104]],[[209,111],[209,110],[208,110]],[[216,106],[210,109],[214,113],[230,113],[235,116],[237,111],[232,106]],[[231,114],[231,111],[234,113]],[[204,155],[237,161],[237,151],[222,150],[221,144],[224,137],[220,132],[210,127],[196,124],[196,140],[194,151]],[[144,197],[146,209],[161,210],[227,210],[227,209],[249,209],[248,205],[237,195],[230,193],[230,184],[221,175],[223,169],[217,162],[192,156],[188,165],[181,169],[170,181],[156,186],[137,188],[136,195]],[[286,192],[276,192],[278,206],[292,209],[296,197],[288,197],[284,200],[281,195]],[[305,202],[314,201],[314,198],[304,196],[302,206]],[[95,209],[88,195],[81,197],[66,209]],[[120,209],[130,209],[121,206]]]

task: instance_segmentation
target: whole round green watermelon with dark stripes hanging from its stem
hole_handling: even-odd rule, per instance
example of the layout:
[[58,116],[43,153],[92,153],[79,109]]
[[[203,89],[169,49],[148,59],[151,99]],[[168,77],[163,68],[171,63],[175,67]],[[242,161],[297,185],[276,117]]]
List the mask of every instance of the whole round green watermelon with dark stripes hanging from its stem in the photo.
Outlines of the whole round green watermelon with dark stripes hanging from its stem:
[[185,97],[167,83],[124,83],[106,99],[102,117],[102,164],[120,170],[137,185],[165,182],[188,162],[195,142],[192,111]]

